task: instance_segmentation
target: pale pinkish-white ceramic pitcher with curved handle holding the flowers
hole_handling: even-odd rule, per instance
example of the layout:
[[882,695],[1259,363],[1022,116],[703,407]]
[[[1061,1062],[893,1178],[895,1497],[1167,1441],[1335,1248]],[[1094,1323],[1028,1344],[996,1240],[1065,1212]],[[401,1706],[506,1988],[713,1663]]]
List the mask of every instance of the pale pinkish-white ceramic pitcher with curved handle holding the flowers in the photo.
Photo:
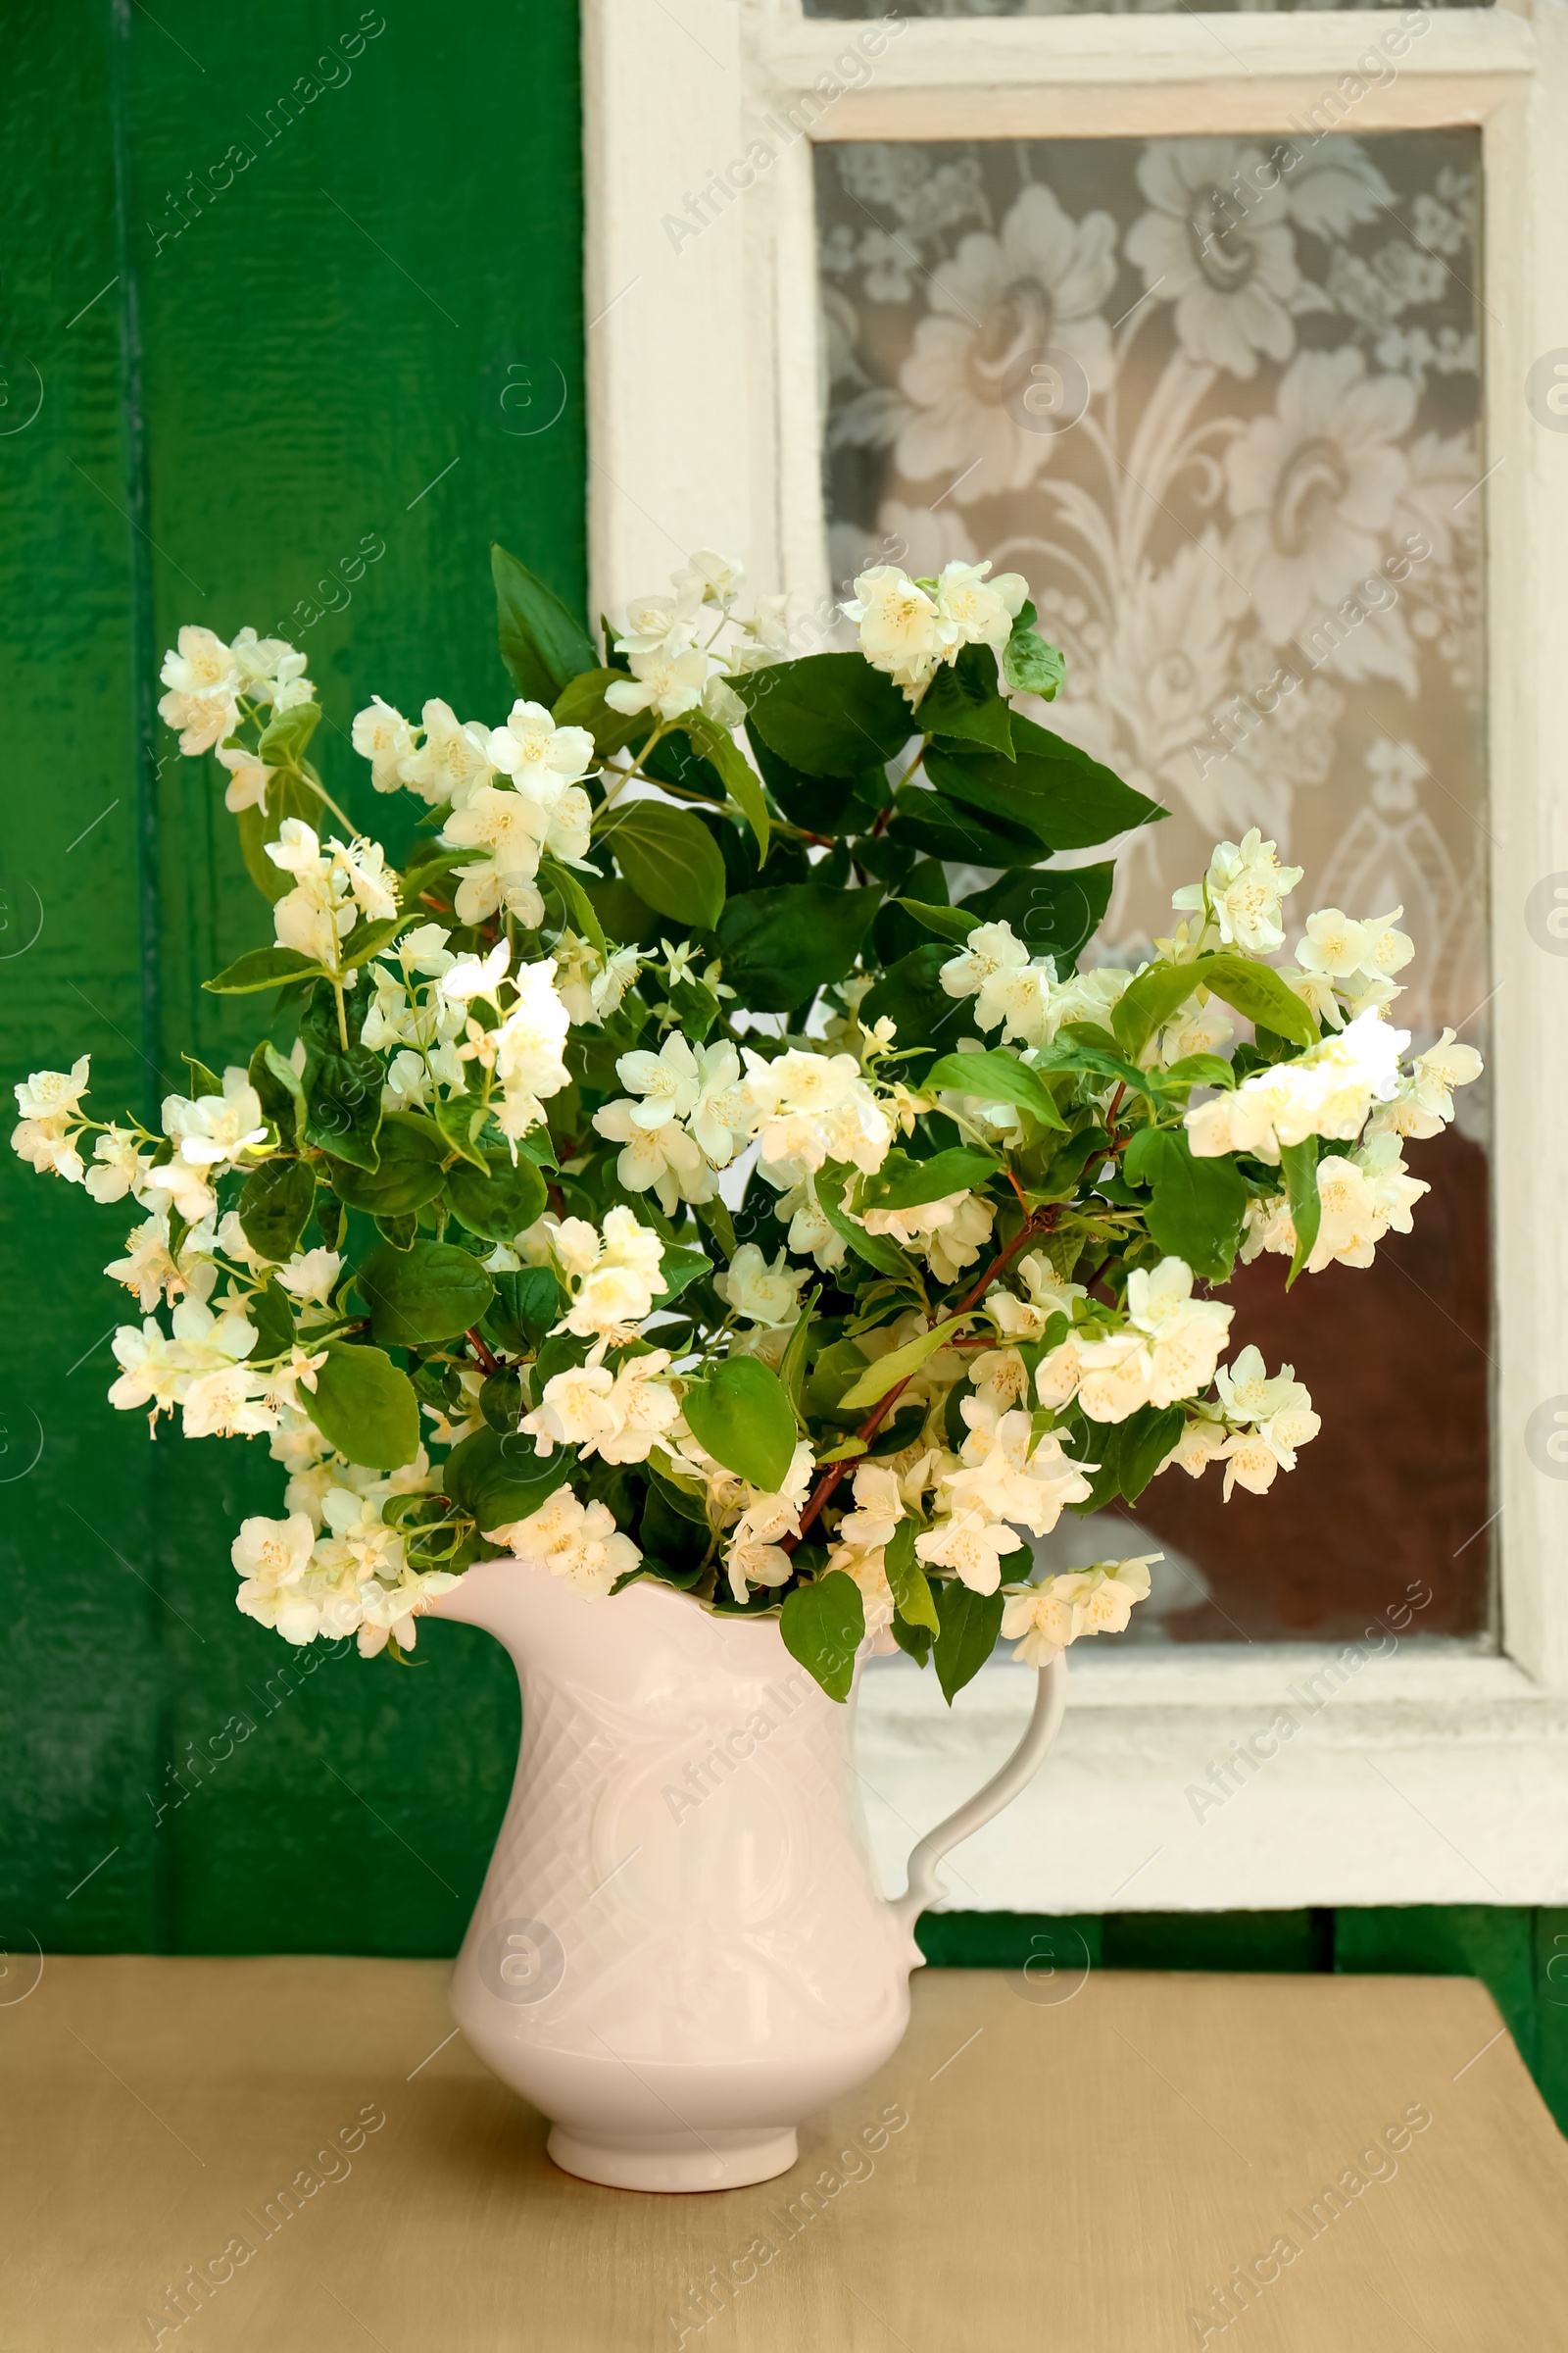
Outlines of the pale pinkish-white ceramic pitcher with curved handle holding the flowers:
[[872,1873],[846,1706],[776,1619],[710,1617],[646,1579],[590,1602],[487,1560],[435,1605],[522,1682],[522,1755],[451,1981],[503,2082],[552,2118],[569,2174],[637,2191],[769,2181],[795,2125],[872,2075],[910,2019],[936,1861],[1034,1774],[1063,1718],[1041,1668],[1020,1746]]

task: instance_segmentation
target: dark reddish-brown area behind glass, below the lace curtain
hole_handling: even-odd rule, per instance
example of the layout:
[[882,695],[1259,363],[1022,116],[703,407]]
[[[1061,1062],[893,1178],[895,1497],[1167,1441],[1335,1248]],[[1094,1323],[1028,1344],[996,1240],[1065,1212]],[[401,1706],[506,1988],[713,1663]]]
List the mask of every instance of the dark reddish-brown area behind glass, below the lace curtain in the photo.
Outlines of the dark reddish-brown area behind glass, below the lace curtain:
[[1302,1275],[1286,1261],[1237,1268],[1232,1355],[1262,1348],[1295,1365],[1324,1417],[1298,1468],[1267,1497],[1220,1501],[1220,1468],[1166,1471],[1138,1499],[1138,1525],[1208,1577],[1213,1602],[1171,1617],[1178,1642],[1342,1640],[1406,1595],[1432,1602],[1410,1633],[1481,1633],[1490,1567],[1488,1489],[1488,1172],[1450,1129],[1410,1146],[1432,1193],[1415,1233],[1389,1233],[1368,1268]]

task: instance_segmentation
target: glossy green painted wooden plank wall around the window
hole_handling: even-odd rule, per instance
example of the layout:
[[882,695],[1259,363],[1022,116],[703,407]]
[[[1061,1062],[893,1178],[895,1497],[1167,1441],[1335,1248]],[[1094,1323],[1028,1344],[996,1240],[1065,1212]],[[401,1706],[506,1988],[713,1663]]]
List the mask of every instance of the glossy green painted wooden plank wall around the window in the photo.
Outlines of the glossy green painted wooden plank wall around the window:
[[[200,981],[259,904],[153,711],[181,621],[303,645],[329,784],[386,821],[348,718],[371,689],[501,708],[489,539],[581,595],[576,45],[574,0],[277,0],[263,24],[12,0],[7,1085],[92,1052],[99,1115],[148,1118],[183,1047],[221,1064],[244,1038]],[[517,1748],[510,1668],[468,1628],[360,1671],[237,1617],[228,1539],[277,1471],[167,1424],[148,1445],[103,1402],[125,1224],[5,1155],[0,1946],[449,1953]],[[1568,2118],[1568,1913],[1067,1927],[1095,1967],[1479,1974]],[[1018,1915],[922,1934],[950,1965],[1077,1953]]]

